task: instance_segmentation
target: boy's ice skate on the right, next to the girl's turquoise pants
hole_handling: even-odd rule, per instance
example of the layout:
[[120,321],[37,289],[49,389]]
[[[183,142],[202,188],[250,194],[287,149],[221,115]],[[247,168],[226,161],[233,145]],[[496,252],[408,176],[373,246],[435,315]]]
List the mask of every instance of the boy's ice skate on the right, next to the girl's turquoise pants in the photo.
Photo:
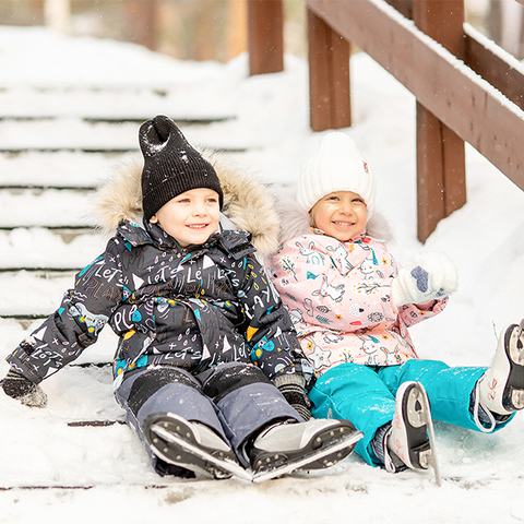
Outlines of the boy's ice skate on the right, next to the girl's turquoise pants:
[[257,438],[250,452],[253,481],[330,467],[349,455],[361,437],[348,420],[312,419],[271,426]]

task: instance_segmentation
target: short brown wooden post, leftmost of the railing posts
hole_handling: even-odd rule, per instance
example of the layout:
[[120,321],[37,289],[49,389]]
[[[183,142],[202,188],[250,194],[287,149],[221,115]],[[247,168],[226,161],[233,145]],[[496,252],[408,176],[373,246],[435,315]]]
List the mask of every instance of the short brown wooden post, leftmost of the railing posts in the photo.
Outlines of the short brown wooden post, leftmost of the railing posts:
[[248,0],[250,74],[284,70],[284,8],[282,0]]

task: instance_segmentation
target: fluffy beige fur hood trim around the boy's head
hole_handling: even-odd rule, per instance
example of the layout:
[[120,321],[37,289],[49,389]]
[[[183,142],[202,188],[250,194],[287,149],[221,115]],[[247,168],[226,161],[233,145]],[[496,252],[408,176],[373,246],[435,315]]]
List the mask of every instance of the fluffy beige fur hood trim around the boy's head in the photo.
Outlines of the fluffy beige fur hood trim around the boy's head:
[[[278,215],[273,195],[253,175],[242,171],[221,153],[201,151],[216,170],[224,191],[223,226],[245,229],[262,257],[273,254],[278,247]],[[93,198],[96,226],[110,237],[122,221],[142,224],[143,157],[136,154],[115,167]],[[230,224],[227,224],[227,221]],[[224,224],[225,223],[225,224]]]

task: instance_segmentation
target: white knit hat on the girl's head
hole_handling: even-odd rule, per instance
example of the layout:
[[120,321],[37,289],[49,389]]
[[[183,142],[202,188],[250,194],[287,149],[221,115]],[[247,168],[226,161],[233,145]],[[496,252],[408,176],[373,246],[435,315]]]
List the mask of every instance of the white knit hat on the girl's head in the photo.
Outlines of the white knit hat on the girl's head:
[[309,212],[320,199],[335,191],[359,194],[366,202],[369,219],[374,206],[374,176],[353,140],[337,131],[322,139],[319,151],[303,166],[297,201]]

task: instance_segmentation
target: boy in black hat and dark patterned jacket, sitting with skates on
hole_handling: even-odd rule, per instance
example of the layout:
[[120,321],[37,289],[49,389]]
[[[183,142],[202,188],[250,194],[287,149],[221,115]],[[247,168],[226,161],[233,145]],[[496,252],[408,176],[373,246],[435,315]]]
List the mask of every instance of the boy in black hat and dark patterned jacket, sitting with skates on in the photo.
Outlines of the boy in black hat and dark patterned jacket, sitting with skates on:
[[[8,357],[4,392],[44,406],[38,383],[109,322],[120,337],[115,394],[159,475],[264,479],[347,456],[359,438],[350,422],[302,421],[314,374],[250,235],[218,233],[215,169],[167,117],[145,122],[139,139],[143,227],[120,222],[60,308]],[[111,198],[135,189],[116,184]]]

